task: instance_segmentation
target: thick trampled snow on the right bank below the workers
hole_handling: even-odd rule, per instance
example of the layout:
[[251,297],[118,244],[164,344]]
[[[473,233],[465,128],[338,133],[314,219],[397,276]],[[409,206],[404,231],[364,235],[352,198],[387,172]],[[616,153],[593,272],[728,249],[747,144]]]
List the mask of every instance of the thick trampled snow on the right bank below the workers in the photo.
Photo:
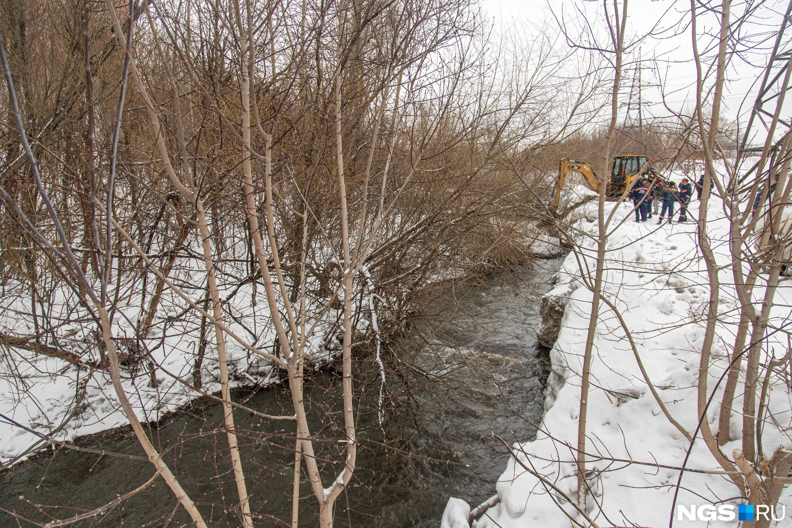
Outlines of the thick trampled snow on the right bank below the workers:
[[[679,181],[679,177],[676,180]],[[614,207],[608,203],[609,209]],[[693,218],[698,218],[699,203],[691,204]],[[700,321],[709,287],[706,268],[696,241],[694,223],[657,225],[657,215],[645,223],[634,222],[632,205],[623,204],[615,211],[614,223],[624,220],[608,242],[605,273],[605,295],[623,314],[637,344],[649,378],[668,411],[691,434],[697,425],[697,390],[700,350],[704,323]],[[713,348],[709,370],[709,391],[728,365],[726,344],[734,342],[738,305],[729,268],[729,224],[716,198],[707,214],[710,236],[718,261],[724,264],[719,306],[718,339]],[[587,222],[584,218],[581,222]],[[581,224],[583,225],[583,224]],[[596,227],[595,227],[596,229]],[[584,242],[588,254],[596,249],[592,241]],[[558,273],[558,283],[548,295],[569,297],[558,340],[550,353],[553,363],[548,382],[545,416],[534,441],[514,444],[514,449],[527,467],[543,474],[559,490],[573,500],[577,497],[576,453],[577,414],[580,405],[582,359],[588,329],[592,293],[583,287],[580,264],[584,260],[570,253]],[[595,268],[588,259],[589,271]],[[767,275],[764,275],[767,278]],[[779,325],[790,315],[792,288],[782,283],[776,294],[772,318]],[[763,288],[754,291],[761,298]],[[600,322],[594,342],[591,390],[588,397],[588,452],[608,458],[621,458],[651,464],[681,466],[690,443],[664,416],[649,391],[638,367],[634,351],[615,313],[600,305]],[[769,338],[776,358],[787,350],[787,337],[778,332]],[[767,358],[762,359],[766,363]],[[744,365],[744,363],[743,363]],[[707,417],[713,431],[718,429],[719,401],[725,381],[715,391]],[[722,451],[731,458],[734,449],[741,449],[742,382],[733,404],[729,443]],[[784,432],[790,427],[790,392],[786,384],[771,386],[770,411],[779,427],[765,427],[765,450],[784,446],[792,448],[792,439]],[[551,438],[552,437],[552,438]],[[565,445],[566,444],[566,445]],[[769,456],[769,454],[767,454]],[[594,500],[588,498],[589,515],[599,526],[668,526],[672,500],[680,472],[650,465],[626,465],[622,462],[589,463],[596,477],[590,482]],[[718,462],[707,449],[700,435],[695,440],[687,467],[718,469]],[[601,472],[601,473],[600,473]],[[527,473],[510,458],[497,483],[500,502],[472,526],[475,528],[569,528],[573,526],[565,510],[574,519],[588,526],[581,515],[562,496]],[[792,526],[792,487],[782,492],[786,519],[771,526]],[[737,504],[740,493],[728,477],[718,474],[684,473],[677,504],[700,506],[720,501]],[[467,527],[470,507],[462,500],[448,501],[443,528]],[[736,509],[736,508],[735,508]],[[738,526],[738,521],[679,520],[673,526]]]

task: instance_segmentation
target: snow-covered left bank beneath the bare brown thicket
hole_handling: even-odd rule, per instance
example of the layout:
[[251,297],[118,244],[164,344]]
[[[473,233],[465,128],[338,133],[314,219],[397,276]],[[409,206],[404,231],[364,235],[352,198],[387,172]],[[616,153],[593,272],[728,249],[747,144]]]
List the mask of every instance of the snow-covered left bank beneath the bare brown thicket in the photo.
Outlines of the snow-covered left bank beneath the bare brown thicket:
[[[192,275],[200,277],[202,270],[190,268],[192,263],[194,260],[191,259],[178,261],[179,265],[171,279],[176,283],[189,283]],[[253,346],[271,349],[275,333],[263,298],[263,288],[258,287],[259,301],[252,305],[252,285],[240,283],[235,278],[234,275],[242,275],[239,270],[229,269],[227,272],[227,275],[221,273],[219,283],[225,324]],[[150,298],[150,292],[154,290],[153,279],[147,289]],[[135,348],[139,348],[139,343],[143,342],[156,363],[139,359],[135,364],[121,369],[122,384],[132,407],[139,420],[148,422],[159,420],[166,412],[196,397],[218,393],[219,363],[213,345],[214,329],[209,324],[206,328],[208,344],[201,367],[203,386],[200,391],[190,388],[195,381],[193,373],[200,344],[197,339],[200,316],[189,310],[186,303],[168,289],[162,293],[158,318],[147,339],[136,340],[135,324],[141,313],[140,291],[142,285],[139,279],[124,283],[119,297],[128,300],[121,302],[114,313],[112,333],[119,344],[120,355],[135,353],[140,356],[139,350]],[[29,300],[26,302],[24,297],[29,290],[23,286],[19,292],[13,291],[13,287],[7,287],[3,292],[4,317],[0,331],[16,336],[34,335],[36,329],[32,317],[28,315]],[[198,291],[194,297],[200,298],[203,294],[203,291]],[[64,322],[56,330],[59,345],[80,355],[86,363],[98,363],[97,335],[91,328],[91,321],[85,325],[78,321],[70,323],[79,315],[84,315],[84,312],[75,309],[74,304],[70,305],[70,301],[73,302],[73,299],[63,295],[58,302],[48,305],[48,310],[51,310],[47,314],[48,320]],[[318,325],[310,337],[307,359],[314,364],[331,359],[337,353],[338,345],[334,336],[326,336],[328,329],[332,328],[329,322],[337,318],[337,314],[336,310],[329,310],[326,315],[328,324]],[[230,386],[266,386],[277,382],[279,373],[268,359],[248,351],[230,338],[226,345]],[[0,363],[2,462],[9,462],[24,454],[30,446],[40,442],[40,435],[68,441],[128,424],[112,388],[108,370],[95,370],[88,377],[88,369],[78,370],[62,359],[17,348],[6,348],[6,351]],[[152,382],[152,374],[156,378],[156,386]],[[80,399],[78,394],[83,393],[82,389],[84,397]]]

